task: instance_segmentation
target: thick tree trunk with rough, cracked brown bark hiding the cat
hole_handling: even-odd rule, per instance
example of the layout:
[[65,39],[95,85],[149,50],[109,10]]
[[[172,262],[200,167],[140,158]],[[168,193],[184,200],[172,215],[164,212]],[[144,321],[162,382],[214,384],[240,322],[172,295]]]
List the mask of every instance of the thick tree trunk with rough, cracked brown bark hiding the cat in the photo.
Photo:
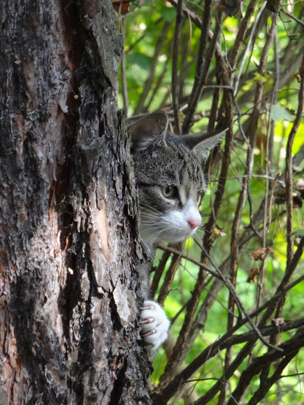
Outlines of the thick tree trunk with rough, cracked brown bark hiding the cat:
[[112,4],[0,19],[0,403],[149,403]]

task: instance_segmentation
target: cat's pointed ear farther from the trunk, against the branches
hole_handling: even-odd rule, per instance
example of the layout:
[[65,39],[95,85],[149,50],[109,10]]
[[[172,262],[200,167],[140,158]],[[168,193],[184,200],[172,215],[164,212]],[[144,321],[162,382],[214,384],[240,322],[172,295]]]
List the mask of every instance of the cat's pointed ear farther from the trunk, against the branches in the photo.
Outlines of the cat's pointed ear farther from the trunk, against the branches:
[[191,149],[198,159],[205,159],[210,149],[216,147],[224,138],[228,128],[211,133],[193,133],[191,135],[182,135],[182,142]]

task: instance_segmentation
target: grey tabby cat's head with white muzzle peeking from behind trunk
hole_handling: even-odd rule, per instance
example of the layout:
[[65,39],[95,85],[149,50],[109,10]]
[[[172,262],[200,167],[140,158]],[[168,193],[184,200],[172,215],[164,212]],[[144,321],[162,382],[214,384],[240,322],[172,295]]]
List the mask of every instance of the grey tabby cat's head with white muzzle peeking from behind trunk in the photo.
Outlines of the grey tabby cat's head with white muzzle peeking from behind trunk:
[[203,159],[222,133],[173,135],[168,117],[153,112],[129,128],[139,190],[140,236],[147,245],[180,242],[201,224],[198,205],[206,182]]

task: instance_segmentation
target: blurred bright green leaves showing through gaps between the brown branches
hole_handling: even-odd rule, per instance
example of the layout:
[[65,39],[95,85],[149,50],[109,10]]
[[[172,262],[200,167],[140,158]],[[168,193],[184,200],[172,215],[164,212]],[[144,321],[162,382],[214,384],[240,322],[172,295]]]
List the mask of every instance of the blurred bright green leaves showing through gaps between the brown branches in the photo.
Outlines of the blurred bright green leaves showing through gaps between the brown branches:
[[[247,12],[249,1],[242,2],[243,16]],[[238,198],[242,187],[242,179],[245,173],[247,142],[244,140],[240,126],[247,131],[247,124],[251,117],[255,105],[256,87],[263,83],[263,98],[261,98],[261,109],[256,128],[256,144],[254,147],[254,165],[252,177],[249,182],[249,192],[252,198],[252,212],[250,211],[249,198],[245,201],[245,207],[241,218],[239,235],[243,235],[246,227],[250,224],[250,215],[259,212],[261,202],[268,198],[266,207],[266,217],[271,219],[269,226],[263,222],[263,217],[256,229],[256,235],[249,237],[244,242],[243,251],[238,258],[238,273],[236,282],[236,292],[240,297],[245,309],[250,312],[261,303],[266,302],[269,297],[275,293],[277,285],[284,276],[287,263],[287,214],[284,204],[284,173],[285,155],[288,135],[296,119],[298,109],[298,93],[300,89],[301,77],[299,68],[303,54],[303,24],[299,23],[291,16],[301,20],[303,17],[303,6],[300,1],[282,3],[282,11],[277,16],[275,36],[270,44],[266,61],[266,70],[261,72],[261,57],[266,44],[270,26],[275,18],[275,13],[263,10],[261,17],[257,16],[261,12],[263,2],[258,1],[254,7],[254,13],[249,20],[249,27],[245,34],[242,45],[238,52],[238,59],[232,74],[232,86],[235,91],[233,106],[233,149],[231,152],[231,163],[226,179],[224,199],[219,210],[216,221],[216,229],[212,235],[212,248],[210,256],[215,264],[223,266],[225,260],[229,260],[231,254],[231,228],[233,218],[236,214]],[[203,1],[184,1],[184,5],[191,10],[196,17],[201,18],[205,3]],[[288,15],[285,14],[289,13]],[[122,90],[124,88],[123,80],[120,82],[119,103],[121,108],[128,111],[131,117],[134,112],[136,115],[142,115],[154,110],[164,110],[173,117],[172,113],[172,91],[171,91],[171,72],[173,68],[173,36],[175,30],[175,7],[169,1],[133,1],[130,2],[130,10],[126,15],[120,15],[120,24],[125,29],[125,69],[121,71],[126,82],[127,103],[123,100]],[[228,17],[220,15],[216,8],[212,8],[211,31],[215,30],[216,20],[221,19],[221,32],[217,41],[219,50],[222,51],[224,59],[229,59],[229,52],[236,43],[236,36],[240,29],[242,19],[240,17]],[[256,24],[256,26],[254,25]],[[180,86],[180,117],[184,119],[184,110],[187,110],[187,100],[191,94],[194,85],[196,72],[196,57],[199,49],[201,30],[196,26],[190,15],[184,16],[182,31],[180,33],[180,57],[178,60],[179,86]],[[157,44],[159,44],[159,53],[156,55]],[[248,45],[249,44],[249,45]],[[245,50],[248,45],[247,57]],[[242,66],[243,64],[243,66]],[[153,70],[154,68],[154,70]],[[152,70],[151,70],[152,69]],[[227,69],[229,66],[227,64]],[[194,125],[192,131],[206,131],[210,120],[210,110],[215,97],[216,85],[218,85],[218,65],[217,58],[213,57],[208,71],[208,78],[205,82],[201,98],[199,100],[196,115],[194,116]],[[140,95],[145,88],[147,79],[152,75],[150,86],[147,88],[147,95],[143,104],[138,108]],[[240,75],[237,87],[237,78]],[[219,105],[222,101],[223,92],[219,91]],[[221,117],[217,117],[220,119]],[[172,121],[174,121],[172,119]],[[174,124],[173,124],[174,128]],[[293,143],[293,155],[295,156],[304,145],[304,122],[302,120],[297,135]],[[268,151],[269,139],[273,139],[273,153]],[[210,184],[208,192],[203,198],[201,212],[203,223],[208,221],[212,214],[212,206],[215,200],[215,191],[221,168],[221,159],[223,156],[224,142],[215,161],[210,175]],[[303,180],[303,159],[298,163],[298,168],[294,170],[293,184]],[[295,196],[298,196],[298,202],[294,202],[293,222],[296,251],[299,240],[303,237],[303,208],[301,198],[303,198],[303,189],[294,189]],[[262,210],[263,212],[263,210]],[[266,235],[263,240],[263,229],[266,226]],[[203,227],[202,227],[203,228]],[[198,240],[203,239],[203,230],[198,230]],[[252,253],[261,246],[268,247],[269,251],[262,261],[254,260]],[[186,242],[185,250],[189,256],[196,260],[201,260],[201,249],[195,241]],[[163,251],[157,252],[157,258],[154,267],[159,265]],[[159,287],[164,282],[164,274],[168,269],[170,259],[162,275]],[[210,266],[212,268],[212,266]],[[221,267],[222,268],[222,267]],[[259,269],[254,281],[248,282],[250,272],[254,268]],[[298,265],[290,281],[303,274],[303,260]],[[171,327],[173,335],[178,336],[182,323],[184,321],[184,304],[191,298],[198,274],[198,266],[191,263],[191,260],[182,259],[175,279],[171,285],[170,293],[166,298],[164,308],[169,318],[175,321]],[[153,274],[152,274],[153,276]],[[212,286],[214,278],[208,274],[205,277],[205,286],[200,297],[200,307],[208,290]],[[304,283],[299,283],[287,295],[282,318],[295,320],[303,316],[303,293]],[[157,295],[157,294],[156,294]],[[184,358],[184,366],[189,364],[196,356],[212,345],[217,338],[221,337],[227,328],[227,302],[229,290],[223,284],[219,289],[217,296],[208,312],[201,331],[198,333],[194,344],[189,353]],[[180,313],[176,318],[176,314]],[[257,323],[261,318],[254,319]],[[244,325],[238,333],[247,332],[248,325]],[[280,334],[281,341],[290,339],[294,331],[283,332]],[[245,344],[233,346],[233,358],[239,353],[240,348]],[[249,357],[241,362],[240,366],[229,378],[226,391],[226,400],[236,388],[239,382],[240,374],[247,368],[253,358],[266,353],[268,349],[261,341],[257,341]],[[195,383],[189,383],[195,392],[194,398],[198,399],[205,395],[215,384],[216,378],[221,378],[224,367],[224,351],[219,352],[217,356],[210,358],[203,367],[199,369],[192,377],[197,379]],[[161,348],[154,360],[154,373],[152,383],[157,386],[159,378],[164,373],[166,366],[166,355]],[[275,369],[275,365],[270,367],[270,374]],[[303,348],[298,355],[293,358],[282,372],[279,378],[271,386],[267,395],[263,397],[261,404],[304,404],[304,356]],[[201,380],[201,381],[200,381]],[[254,392],[259,389],[259,376],[253,376],[249,387],[245,391],[242,399],[243,404],[247,404]],[[174,404],[184,404],[185,400],[175,398],[171,400]],[[219,403],[217,394],[209,402],[210,404]],[[224,402],[223,402],[224,403]]]

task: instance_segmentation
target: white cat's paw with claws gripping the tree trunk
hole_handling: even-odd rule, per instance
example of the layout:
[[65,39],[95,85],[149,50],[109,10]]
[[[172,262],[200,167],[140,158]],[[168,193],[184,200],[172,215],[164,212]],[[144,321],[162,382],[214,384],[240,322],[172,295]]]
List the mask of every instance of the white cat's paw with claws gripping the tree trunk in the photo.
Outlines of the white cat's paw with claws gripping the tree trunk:
[[140,325],[147,349],[156,354],[157,349],[168,337],[170,322],[157,302],[145,301],[140,308]]

